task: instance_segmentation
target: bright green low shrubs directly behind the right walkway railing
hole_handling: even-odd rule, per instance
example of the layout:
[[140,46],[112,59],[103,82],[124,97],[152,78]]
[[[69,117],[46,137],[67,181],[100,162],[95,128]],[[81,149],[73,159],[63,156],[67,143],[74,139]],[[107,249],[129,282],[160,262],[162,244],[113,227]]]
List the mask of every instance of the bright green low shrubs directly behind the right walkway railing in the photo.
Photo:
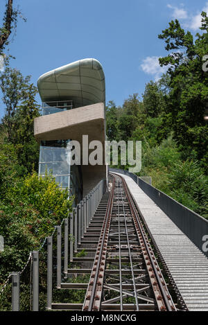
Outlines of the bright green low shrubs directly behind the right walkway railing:
[[207,176],[198,161],[181,160],[181,153],[172,136],[156,147],[146,143],[139,175],[151,176],[153,186],[208,218]]

